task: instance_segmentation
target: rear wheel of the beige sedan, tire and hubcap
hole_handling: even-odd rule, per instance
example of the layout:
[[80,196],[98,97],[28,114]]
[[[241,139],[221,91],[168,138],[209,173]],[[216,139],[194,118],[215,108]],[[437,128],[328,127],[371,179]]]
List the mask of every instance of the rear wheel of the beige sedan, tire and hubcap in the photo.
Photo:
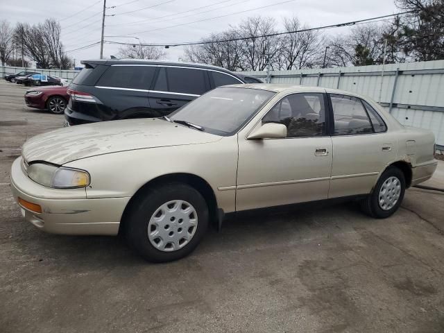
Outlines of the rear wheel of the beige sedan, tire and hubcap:
[[379,177],[372,193],[361,201],[361,209],[368,216],[385,219],[398,210],[404,193],[404,173],[397,167],[388,167]]

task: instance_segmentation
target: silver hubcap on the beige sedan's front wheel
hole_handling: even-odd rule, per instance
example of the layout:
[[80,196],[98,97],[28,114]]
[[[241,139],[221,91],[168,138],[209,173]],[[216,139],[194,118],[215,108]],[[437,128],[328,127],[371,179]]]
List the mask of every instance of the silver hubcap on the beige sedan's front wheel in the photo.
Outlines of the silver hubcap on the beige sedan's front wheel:
[[155,210],[148,223],[148,239],[157,250],[171,252],[183,248],[197,230],[197,213],[183,200],[171,200]]

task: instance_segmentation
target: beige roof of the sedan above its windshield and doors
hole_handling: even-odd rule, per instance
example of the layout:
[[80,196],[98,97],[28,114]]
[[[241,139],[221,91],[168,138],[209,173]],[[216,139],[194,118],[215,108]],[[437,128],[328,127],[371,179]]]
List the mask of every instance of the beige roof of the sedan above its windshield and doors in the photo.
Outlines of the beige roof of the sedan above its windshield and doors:
[[284,85],[279,83],[248,83],[244,85],[224,85],[223,87],[236,87],[236,88],[247,88],[247,89],[261,89],[268,90],[269,92],[327,92],[329,94],[345,94],[350,96],[359,96],[354,92],[348,92],[340,89],[330,89],[323,87],[311,87],[307,85]]

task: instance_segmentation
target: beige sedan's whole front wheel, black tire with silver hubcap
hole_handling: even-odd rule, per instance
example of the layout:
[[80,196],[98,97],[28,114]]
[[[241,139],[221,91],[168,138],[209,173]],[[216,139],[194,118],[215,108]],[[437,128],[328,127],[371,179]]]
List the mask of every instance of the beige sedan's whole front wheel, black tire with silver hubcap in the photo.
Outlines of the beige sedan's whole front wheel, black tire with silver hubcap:
[[171,182],[137,196],[123,225],[128,245],[144,259],[171,262],[198,246],[208,219],[205,198],[189,185]]

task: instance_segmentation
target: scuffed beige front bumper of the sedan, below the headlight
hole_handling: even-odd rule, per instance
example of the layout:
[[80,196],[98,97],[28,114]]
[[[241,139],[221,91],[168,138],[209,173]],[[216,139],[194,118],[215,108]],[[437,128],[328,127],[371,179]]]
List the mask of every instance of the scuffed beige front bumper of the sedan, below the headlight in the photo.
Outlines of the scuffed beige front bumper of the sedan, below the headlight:
[[12,163],[12,195],[40,205],[41,213],[22,206],[26,221],[45,232],[55,234],[115,235],[123,210],[130,198],[87,199],[85,189],[50,189],[28,178],[22,169],[22,157]]

